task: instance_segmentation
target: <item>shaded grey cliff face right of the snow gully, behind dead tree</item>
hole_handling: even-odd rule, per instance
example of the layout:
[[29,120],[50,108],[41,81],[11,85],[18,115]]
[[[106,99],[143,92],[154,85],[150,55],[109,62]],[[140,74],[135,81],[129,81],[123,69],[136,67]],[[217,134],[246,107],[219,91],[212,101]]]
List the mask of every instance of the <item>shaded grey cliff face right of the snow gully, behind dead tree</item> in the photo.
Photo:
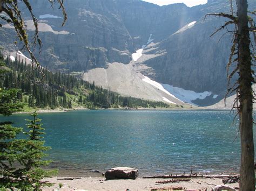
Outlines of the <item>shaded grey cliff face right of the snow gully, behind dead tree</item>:
[[[226,84],[225,67],[230,52],[227,47],[231,44],[228,37],[218,43],[221,33],[209,38],[213,30],[210,21],[199,21],[184,31],[174,33],[145,49],[144,54],[161,55],[145,59],[143,64],[154,69],[154,79],[158,82],[219,94]],[[143,74],[147,76],[147,70]]]

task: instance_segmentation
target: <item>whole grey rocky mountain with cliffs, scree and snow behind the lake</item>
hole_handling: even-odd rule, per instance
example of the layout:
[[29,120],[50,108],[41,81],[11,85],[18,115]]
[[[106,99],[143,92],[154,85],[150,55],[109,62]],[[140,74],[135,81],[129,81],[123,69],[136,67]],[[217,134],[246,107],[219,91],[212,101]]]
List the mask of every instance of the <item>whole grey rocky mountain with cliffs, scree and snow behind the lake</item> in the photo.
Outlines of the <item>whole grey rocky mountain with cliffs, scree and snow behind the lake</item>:
[[[256,8],[249,2],[250,10]],[[43,41],[43,66],[75,74],[122,95],[155,101],[212,105],[226,93],[231,34],[211,34],[230,12],[227,1],[188,8],[139,0],[67,0],[68,21],[47,1],[32,1]],[[33,30],[24,10],[29,30]],[[0,45],[17,50],[12,26],[0,29]],[[230,28],[231,29],[231,28]],[[25,53],[24,53],[25,54]]]

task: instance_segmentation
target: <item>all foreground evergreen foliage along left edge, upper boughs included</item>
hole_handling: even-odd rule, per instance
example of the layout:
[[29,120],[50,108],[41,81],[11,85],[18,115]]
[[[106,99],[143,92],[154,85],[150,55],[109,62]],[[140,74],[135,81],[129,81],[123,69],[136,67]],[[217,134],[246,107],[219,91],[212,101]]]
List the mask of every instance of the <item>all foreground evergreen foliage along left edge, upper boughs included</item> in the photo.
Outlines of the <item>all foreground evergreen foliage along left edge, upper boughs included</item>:
[[[17,84],[14,74],[5,66],[2,55],[0,55],[0,65],[2,67],[0,82],[5,84],[0,88],[0,114],[10,116],[13,112],[21,111],[24,104],[21,103],[21,90],[15,88]],[[41,182],[43,178],[56,173],[41,168],[50,162],[42,160],[45,157],[43,152],[50,147],[45,147],[42,140],[44,129],[39,123],[41,119],[37,118],[36,112],[30,115],[33,117],[27,120],[30,130],[24,132],[28,139],[17,138],[17,135],[23,131],[22,128],[15,128],[11,122],[0,122],[0,190],[5,188],[39,190],[43,186],[51,186],[49,182]]]

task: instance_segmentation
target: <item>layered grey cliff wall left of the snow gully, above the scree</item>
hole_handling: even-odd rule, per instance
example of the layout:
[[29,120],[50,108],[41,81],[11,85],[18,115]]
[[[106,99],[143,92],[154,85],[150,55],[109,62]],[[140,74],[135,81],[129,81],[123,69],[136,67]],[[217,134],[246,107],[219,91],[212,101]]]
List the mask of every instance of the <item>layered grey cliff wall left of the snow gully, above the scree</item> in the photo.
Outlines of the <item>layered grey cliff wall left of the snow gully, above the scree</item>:
[[74,0],[65,2],[68,20],[60,27],[61,11],[45,9],[47,1],[31,4],[42,26],[39,61],[67,72],[106,68],[109,62],[127,64],[150,34],[155,41],[163,40],[200,15],[181,3],[160,7],[139,0]]

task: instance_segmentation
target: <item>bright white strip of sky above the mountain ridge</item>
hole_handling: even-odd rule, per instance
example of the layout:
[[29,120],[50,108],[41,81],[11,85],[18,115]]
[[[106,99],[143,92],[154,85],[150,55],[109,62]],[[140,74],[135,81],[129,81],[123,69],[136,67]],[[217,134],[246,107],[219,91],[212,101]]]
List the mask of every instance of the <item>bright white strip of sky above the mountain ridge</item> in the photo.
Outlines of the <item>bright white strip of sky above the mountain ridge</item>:
[[143,0],[157,5],[169,5],[173,3],[185,3],[187,6],[195,6],[207,3],[207,0]]

